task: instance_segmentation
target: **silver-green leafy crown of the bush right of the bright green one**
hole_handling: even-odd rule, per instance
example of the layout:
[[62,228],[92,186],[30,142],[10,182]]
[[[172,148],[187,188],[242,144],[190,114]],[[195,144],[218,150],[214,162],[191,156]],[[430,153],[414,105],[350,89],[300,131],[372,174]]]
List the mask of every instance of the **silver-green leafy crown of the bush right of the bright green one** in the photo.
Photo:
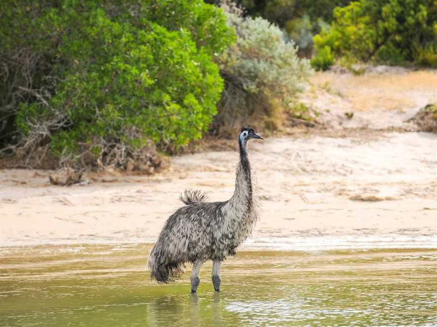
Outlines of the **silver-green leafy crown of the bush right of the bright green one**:
[[222,57],[221,69],[236,76],[250,93],[270,91],[292,96],[311,72],[310,63],[297,57],[297,47],[268,20],[243,18],[235,7],[224,7],[237,40]]

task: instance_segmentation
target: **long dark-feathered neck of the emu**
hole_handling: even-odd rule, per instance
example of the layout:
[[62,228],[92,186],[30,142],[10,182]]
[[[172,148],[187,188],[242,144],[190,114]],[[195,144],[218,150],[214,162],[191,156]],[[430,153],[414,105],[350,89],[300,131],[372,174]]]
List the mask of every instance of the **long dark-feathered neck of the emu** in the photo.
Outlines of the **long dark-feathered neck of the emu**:
[[238,143],[240,146],[240,162],[237,167],[234,195],[229,202],[233,206],[235,213],[244,215],[244,213],[250,211],[253,202],[252,180],[246,141],[239,139]]

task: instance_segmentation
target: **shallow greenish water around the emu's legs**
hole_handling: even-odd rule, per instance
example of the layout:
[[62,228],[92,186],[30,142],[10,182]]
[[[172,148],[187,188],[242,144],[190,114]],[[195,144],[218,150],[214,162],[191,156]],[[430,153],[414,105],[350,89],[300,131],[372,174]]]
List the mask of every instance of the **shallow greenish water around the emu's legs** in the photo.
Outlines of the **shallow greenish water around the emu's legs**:
[[[0,326],[436,326],[437,250],[245,251],[152,283],[150,245],[0,248]],[[189,270],[189,268],[188,268]]]

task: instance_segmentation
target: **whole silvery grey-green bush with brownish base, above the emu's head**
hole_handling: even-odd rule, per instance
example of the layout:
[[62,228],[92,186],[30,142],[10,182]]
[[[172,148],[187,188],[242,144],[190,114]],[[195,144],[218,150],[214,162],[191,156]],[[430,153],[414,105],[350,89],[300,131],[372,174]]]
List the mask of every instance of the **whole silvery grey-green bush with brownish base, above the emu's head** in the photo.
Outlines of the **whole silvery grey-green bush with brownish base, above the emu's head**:
[[[277,115],[301,90],[311,73],[308,60],[299,59],[293,41],[269,21],[244,18],[233,4],[223,4],[237,40],[221,57],[225,91],[213,129],[237,128],[250,117],[275,128]],[[273,125],[271,125],[272,123]]]

